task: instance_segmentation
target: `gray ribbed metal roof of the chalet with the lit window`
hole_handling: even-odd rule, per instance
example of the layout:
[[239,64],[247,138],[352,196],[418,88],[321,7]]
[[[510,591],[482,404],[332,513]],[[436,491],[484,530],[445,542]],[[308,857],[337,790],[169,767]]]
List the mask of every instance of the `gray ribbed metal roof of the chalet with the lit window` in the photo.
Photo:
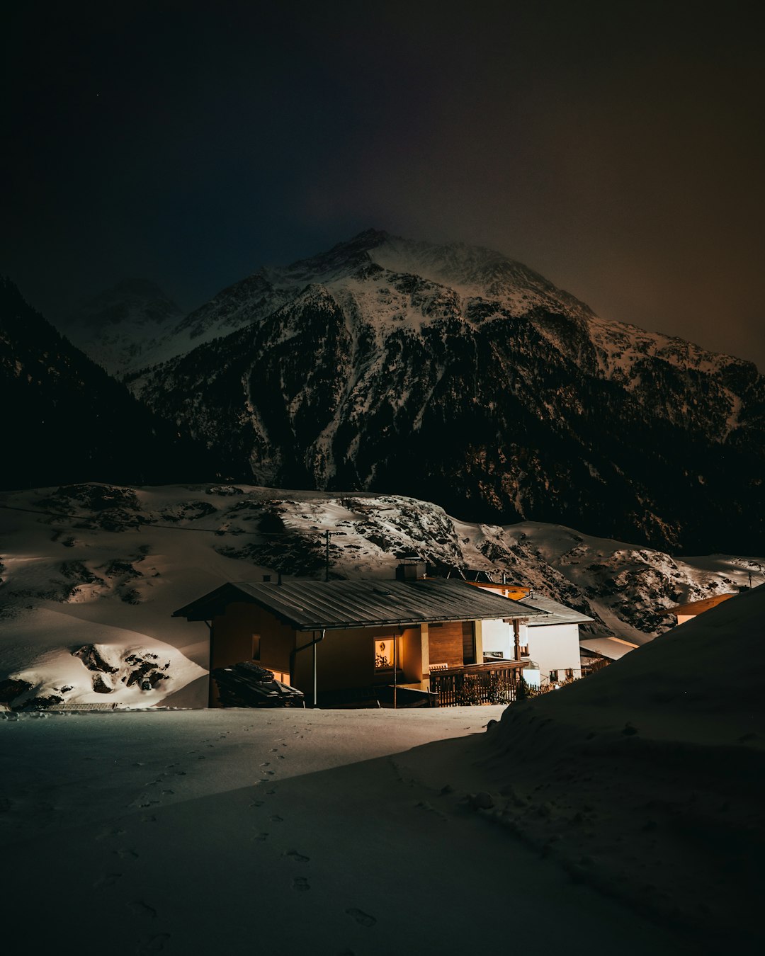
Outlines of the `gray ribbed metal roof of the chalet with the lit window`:
[[447,620],[547,617],[508,597],[462,580],[285,581],[224,584],[173,613],[174,618],[211,620],[234,602],[258,604],[298,631],[336,630],[383,624]]

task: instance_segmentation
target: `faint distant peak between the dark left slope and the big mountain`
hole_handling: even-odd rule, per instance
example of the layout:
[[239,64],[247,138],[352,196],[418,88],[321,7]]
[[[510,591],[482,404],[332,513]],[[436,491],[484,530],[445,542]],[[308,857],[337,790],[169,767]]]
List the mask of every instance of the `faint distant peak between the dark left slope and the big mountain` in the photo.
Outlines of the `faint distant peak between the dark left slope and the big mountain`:
[[183,318],[147,279],[123,279],[81,305],[62,323],[67,337],[112,375],[145,364],[144,350]]

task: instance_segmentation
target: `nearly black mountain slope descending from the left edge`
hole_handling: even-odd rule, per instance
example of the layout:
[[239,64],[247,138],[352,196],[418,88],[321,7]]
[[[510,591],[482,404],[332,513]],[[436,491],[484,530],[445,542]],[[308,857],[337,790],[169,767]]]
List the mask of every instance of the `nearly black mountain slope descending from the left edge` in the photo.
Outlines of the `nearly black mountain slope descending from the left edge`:
[[138,402],[0,278],[0,488],[204,480],[218,456]]

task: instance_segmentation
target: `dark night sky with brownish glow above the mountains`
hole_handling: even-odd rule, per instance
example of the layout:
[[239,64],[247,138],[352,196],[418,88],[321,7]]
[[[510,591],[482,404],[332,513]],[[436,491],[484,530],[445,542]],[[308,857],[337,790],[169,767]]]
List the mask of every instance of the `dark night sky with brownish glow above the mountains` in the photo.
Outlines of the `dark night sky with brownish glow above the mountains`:
[[754,4],[18,3],[2,257],[56,319],[363,228],[525,262],[765,370]]

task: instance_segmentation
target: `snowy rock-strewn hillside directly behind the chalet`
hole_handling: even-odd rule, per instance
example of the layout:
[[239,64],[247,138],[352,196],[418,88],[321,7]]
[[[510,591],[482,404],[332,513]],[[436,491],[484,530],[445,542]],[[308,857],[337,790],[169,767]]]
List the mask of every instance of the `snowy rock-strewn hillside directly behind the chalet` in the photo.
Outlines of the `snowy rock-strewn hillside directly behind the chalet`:
[[467,524],[413,498],[251,486],[6,492],[0,529],[0,681],[120,706],[205,706],[207,630],[172,612],[226,581],[323,576],[325,532],[331,576],[391,578],[415,551],[442,573],[505,572],[631,643],[666,630],[673,604],[765,577],[751,557],[680,561],[560,526]]

